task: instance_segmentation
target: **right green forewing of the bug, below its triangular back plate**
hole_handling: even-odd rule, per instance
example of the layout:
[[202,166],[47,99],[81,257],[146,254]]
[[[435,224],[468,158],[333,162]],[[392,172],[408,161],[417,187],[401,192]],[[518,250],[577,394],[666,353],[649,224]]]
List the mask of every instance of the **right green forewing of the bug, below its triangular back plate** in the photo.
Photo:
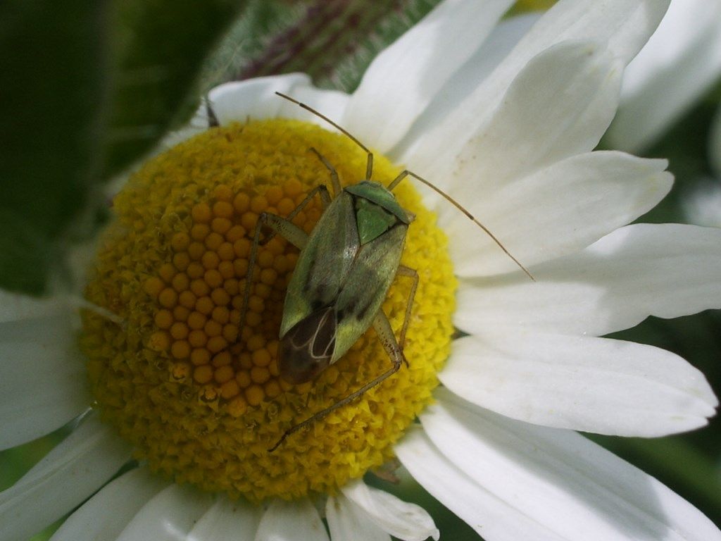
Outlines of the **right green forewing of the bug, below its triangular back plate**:
[[398,271],[407,224],[397,223],[361,247],[335,302],[337,328],[331,364],[368,330]]

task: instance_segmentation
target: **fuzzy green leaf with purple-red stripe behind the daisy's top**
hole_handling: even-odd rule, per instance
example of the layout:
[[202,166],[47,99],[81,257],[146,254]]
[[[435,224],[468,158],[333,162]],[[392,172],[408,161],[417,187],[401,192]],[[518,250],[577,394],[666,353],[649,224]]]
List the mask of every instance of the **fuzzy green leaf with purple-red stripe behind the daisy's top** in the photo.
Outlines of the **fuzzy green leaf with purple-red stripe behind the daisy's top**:
[[252,0],[208,61],[205,88],[301,71],[352,92],[373,58],[440,0]]

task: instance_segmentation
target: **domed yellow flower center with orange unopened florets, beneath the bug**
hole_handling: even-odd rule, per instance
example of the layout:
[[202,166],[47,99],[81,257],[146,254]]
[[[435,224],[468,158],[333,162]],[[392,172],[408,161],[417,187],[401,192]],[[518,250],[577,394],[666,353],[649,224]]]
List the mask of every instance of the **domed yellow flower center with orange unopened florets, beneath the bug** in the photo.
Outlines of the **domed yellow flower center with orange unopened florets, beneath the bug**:
[[[334,493],[393,456],[438,384],[455,280],[435,216],[404,180],[394,194],[415,220],[402,264],[420,276],[408,366],[268,451],[288,428],[392,366],[371,328],[314,381],[280,379],[283,299],[298,260],[280,235],[259,248],[239,335],[258,216],[287,216],[309,190],[330,185],[311,148],[342,185],[363,177],[366,155],[347,137],[266,120],[209,129],[151,159],[113,202],[117,218],[100,243],[87,298],[122,323],[87,312],[81,346],[103,418],[133,443],[137,459],[178,483],[252,501]],[[387,185],[399,170],[375,158],[373,179]],[[293,223],[311,232],[321,214],[316,196]],[[397,276],[383,305],[396,334],[411,286]]]

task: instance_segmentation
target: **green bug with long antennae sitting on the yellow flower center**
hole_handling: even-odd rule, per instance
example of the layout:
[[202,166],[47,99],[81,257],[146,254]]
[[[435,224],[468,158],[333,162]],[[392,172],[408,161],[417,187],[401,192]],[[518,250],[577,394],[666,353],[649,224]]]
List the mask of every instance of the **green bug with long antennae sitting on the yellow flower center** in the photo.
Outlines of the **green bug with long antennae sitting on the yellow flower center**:
[[[510,255],[484,225],[446,193],[408,170],[401,172],[387,187],[371,180],[373,154],[366,146],[317,110],[286,94],[276,94],[322,118],[360,146],[367,154],[366,177],[357,184],[341,188],[332,164],[316,149],[310,149],[329,172],[333,198],[326,185],[321,184],[310,190],[304,201],[286,218],[269,213],[260,214],[249,258],[241,325],[247,313],[261,230],[267,227],[273,231],[270,237],[280,234],[301,250],[283,305],[278,347],[280,377],[293,384],[311,381],[327,366],[338,361],[371,325],[388,353],[392,366],[342,400],[288,428],[268,449],[269,452],[277,449],[294,432],[360,397],[392,376],[402,364],[407,364],[403,346],[419,278],[415,269],[400,264],[413,216],[399,205],[392,190],[404,178],[415,178],[459,208],[533,279],[531,273]],[[321,199],[323,214],[311,233],[306,234],[292,220],[316,194]],[[381,309],[396,276],[406,276],[412,280],[398,339]]]

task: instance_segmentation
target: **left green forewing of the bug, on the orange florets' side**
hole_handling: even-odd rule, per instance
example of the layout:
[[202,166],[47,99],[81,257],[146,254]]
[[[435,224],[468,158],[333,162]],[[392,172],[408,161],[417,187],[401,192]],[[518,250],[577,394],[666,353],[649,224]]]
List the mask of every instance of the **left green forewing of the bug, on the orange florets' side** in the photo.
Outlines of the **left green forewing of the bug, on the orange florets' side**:
[[359,245],[353,197],[342,192],[325,210],[298,258],[283,305],[281,338],[293,325],[335,302]]

